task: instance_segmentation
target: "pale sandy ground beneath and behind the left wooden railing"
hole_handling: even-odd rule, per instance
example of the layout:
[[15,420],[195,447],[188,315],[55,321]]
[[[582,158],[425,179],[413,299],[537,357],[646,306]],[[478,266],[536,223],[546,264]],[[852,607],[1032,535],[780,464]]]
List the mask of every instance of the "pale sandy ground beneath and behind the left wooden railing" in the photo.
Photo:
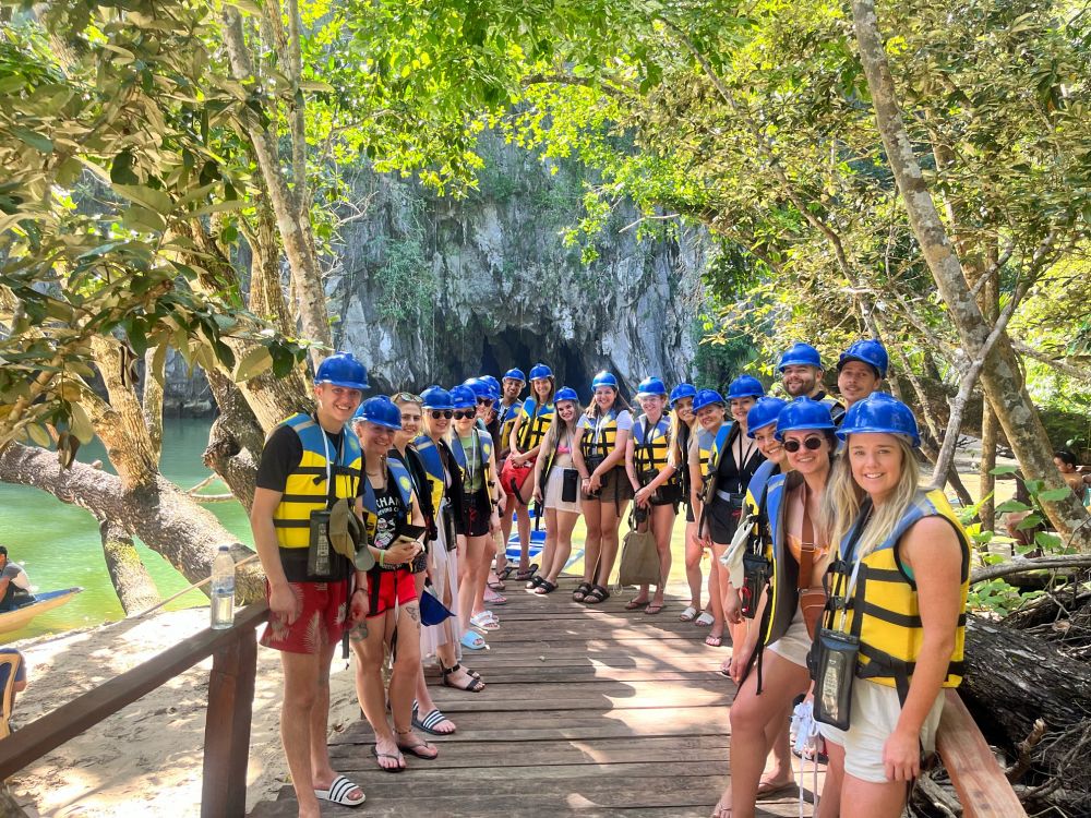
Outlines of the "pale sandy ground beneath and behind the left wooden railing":
[[[28,724],[207,624],[208,609],[201,608],[16,642],[27,659],[29,684],[15,702],[14,724]],[[15,774],[9,784],[26,814],[199,815],[211,667],[209,658]],[[287,780],[278,735],[280,685],[278,653],[259,647],[248,808]],[[331,731],[357,718],[352,671],[338,651]],[[17,732],[11,741],[19,741]]]

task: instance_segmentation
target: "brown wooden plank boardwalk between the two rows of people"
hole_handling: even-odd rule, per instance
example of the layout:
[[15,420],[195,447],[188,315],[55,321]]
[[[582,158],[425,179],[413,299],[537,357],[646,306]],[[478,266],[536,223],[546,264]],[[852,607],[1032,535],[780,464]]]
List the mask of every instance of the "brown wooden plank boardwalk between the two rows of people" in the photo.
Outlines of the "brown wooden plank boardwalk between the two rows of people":
[[[731,682],[716,671],[729,648],[706,647],[706,628],[679,622],[684,602],[661,614],[623,610],[625,597],[598,606],[572,602],[575,580],[548,597],[509,581],[508,604],[491,650],[466,651],[488,687],[433,696],[458,725],[432,737],[440,757],[407,756],[394,775],[370,755],[367,722],[332,746],[334,768],[368,795],[359,809],[324,805],[323,815],[428,818],[625,816],[704,818],[728,782]],[[805,805],[810,815],[810,805]],[[259,804],[254,818],[296,815],[292,790]],[[787,796],[758,815],[799,815]]]

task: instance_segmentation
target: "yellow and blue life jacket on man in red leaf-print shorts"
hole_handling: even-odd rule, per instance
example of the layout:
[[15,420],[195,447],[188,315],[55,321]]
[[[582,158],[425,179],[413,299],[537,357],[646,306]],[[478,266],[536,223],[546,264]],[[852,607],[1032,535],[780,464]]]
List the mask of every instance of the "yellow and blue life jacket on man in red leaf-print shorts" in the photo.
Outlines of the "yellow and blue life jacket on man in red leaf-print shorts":
[[[278,428],[280,425],[298,435],[303,457],[285,481],[280,503],[273,513],[273,526],[281,549],[305,549],[310,544],[311,512],[327,509],[335,500],[355,502],[363,472],[363,455],[359,438],[349,429],[341,433],[341,445],[334,453],[326,433],[310,414],[295,414],[281,421]],[[334,455],[332,462],[327,461],[329,454]],[[374,532],[373,527],[371,531]]]

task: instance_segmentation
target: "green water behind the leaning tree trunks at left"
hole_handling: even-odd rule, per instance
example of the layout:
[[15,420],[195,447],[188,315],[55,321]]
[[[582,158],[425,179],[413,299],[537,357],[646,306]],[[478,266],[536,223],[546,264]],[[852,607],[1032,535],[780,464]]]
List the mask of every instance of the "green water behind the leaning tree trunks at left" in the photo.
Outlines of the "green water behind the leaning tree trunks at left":
[[[208,476],[208,469],[201,462],[201,453],[207,445],[209,424],[208,420],[164,421],[160,469],[165,477],[188,489]],[[95,441],[80,449],[79,459],[105,462],[106,456]],[[108,464],[106,468],[109,469]],[[216,482],[204,491],[215,494],[227,490]],[[241,542],[252,544],[250,525],[241,505],[237,502],[211,503],[205,507]],[[23,630],[0,635],[0,643],[123,618],[124,612],[103,558],[98,524],[89,513],[37,489],[0,483],[0,543],[8,546],[10,558],[26,569],[37,590],[72,586],[84,589],[68,604],[35,617]],[[189,585],[154,551],[142,543],[137,543],[137,550],[164,599]],[[200,591],[191,591],[168,608],[200,604],[207,605],[207,598]]]

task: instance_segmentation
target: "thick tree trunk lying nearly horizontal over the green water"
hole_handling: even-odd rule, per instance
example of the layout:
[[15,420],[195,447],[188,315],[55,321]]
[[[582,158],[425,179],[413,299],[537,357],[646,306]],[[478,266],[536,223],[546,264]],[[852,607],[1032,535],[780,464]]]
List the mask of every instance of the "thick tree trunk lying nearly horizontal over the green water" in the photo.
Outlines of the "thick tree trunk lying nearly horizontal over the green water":
[[[53,453],[11,443],[0,452],[0,480],[33,485],[64,503],[86,508],[98,519],[113,520],[191,582],[209,576],[213,556],[221,543],[230,545],[236,562],[253,553],[212,512],[161,477],[125,491],[121,479],[113,474],[81,462],[64,470]],[[242,603],[265,598],[265,575],[256,561],[239,568],[235,587]]]

